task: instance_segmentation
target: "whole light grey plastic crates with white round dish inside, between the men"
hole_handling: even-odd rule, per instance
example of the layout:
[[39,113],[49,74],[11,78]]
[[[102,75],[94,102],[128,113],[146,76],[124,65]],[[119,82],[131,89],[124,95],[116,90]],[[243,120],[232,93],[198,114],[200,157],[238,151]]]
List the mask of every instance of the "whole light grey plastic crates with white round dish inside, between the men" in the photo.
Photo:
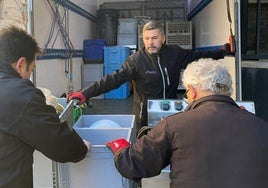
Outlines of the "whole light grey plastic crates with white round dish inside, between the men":
[[57,163],[58,187],[136,188],[134,181],[117,171],[114,154],[105,145],[117,138],[133,143],[134,125],[134,115],[82,115],[73,128],[90,141],[91,149],[79,163]]

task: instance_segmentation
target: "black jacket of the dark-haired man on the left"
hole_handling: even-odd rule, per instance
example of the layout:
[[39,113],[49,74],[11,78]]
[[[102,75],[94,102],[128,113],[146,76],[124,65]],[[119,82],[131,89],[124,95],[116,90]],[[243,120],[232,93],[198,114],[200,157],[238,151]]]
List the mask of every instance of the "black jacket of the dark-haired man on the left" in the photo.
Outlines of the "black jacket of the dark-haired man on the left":
[[10,66],[0,65],[0,187],[33,186],[33,151],[58,162],[87,153],[82,139],[61,123],[43,93]]

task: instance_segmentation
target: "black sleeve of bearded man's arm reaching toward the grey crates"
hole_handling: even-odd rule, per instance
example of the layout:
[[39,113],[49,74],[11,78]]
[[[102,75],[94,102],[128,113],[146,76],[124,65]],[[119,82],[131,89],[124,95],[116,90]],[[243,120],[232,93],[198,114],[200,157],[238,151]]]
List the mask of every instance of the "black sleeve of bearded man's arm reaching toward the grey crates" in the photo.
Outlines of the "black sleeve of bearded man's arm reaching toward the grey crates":
[[135,72],[136,66],[130,60],[126,60],[120,69],[115,70],[111,74],[102,77],[100,80],[95,81],[92,85],[84,88],[82,93],[89,99],[91,97],[98,96],[100,94],[109,92],[113,89],[120,87],[127,81],[132,80],[133,73]]

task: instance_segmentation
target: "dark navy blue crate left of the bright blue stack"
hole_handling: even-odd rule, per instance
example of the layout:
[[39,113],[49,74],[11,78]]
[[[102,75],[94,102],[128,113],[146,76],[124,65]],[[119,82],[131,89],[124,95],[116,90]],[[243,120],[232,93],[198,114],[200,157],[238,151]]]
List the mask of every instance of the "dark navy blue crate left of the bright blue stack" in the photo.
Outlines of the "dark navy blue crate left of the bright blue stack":
[[106,42],[104,39],[84,40],[84,59],[85,60],[103,59],[105,46]]

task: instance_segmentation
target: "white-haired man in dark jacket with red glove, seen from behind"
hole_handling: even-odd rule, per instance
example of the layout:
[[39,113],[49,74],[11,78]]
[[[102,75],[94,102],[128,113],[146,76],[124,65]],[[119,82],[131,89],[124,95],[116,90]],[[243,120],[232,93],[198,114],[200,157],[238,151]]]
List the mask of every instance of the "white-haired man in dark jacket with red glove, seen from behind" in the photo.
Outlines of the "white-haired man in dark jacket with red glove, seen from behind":
[[171,188],[268,187],[268,125],[230,97],[227,68],[200,59],[187,66],[182,81],[185,112],[164,118],[133,145],[107,143],[118,171],[138,180],[170,165]]

